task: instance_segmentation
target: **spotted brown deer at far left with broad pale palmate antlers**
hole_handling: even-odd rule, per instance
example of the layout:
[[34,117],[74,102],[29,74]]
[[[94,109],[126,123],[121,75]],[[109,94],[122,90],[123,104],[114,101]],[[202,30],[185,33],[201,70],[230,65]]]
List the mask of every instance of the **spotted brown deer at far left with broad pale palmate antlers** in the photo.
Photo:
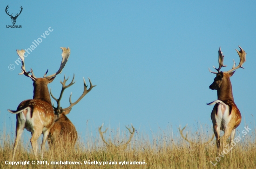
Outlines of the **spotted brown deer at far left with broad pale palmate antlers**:
[[[50,131],[50,128],[54,124],[54,109],[51,105],[51,97],[47,88],[47,84],[51,83],[56,75],[60,74],[62,69],[67,63],[67,59],[70,54],[69,48],[62,49],[62,62],[60,69],[53,75],[46,76],[45,73],[43,78],[36,78],[32,69],[31,72],[27,72],[25,69],[24,54],[25,50],[17,50],[17,54],[20,56],[22,62],[22,72],[20,75],[24,74],[30,77],[34,81],[34,96],[33,99],[24,100],[17,107],[16,111],[8,110],[10,113],[16,114],[16,138],[13,146],[13,159],[17,149],[17,145],[20,141],[21,134],[24,128],[30,131],[32,137],[30,139],[32,148],[34,150],[35,158],[37,159],[37,139],[43,134],[43,140],[41,145],[41,158],[44,155],[45,143]],[[32,75],[30,75],[30,73]]]

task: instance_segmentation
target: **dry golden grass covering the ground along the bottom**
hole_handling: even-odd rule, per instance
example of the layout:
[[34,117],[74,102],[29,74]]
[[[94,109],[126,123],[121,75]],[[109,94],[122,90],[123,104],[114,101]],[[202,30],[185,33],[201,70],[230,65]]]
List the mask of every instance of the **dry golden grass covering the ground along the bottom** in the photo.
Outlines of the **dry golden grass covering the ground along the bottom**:
[[[190,130],[191,131],[191,130]],[[184,131],[185,132],[185,131]],[[211,131],[212,132],[212,131]],[[113,132],[109,132],[113,133]],[[128,139],[128,132],[125,131],[123,135],[112,135],[115,144],[121,141],[122,138]],[[206,135],[207,132],[203,132],[201,129],[190,135],[190,139],[196,142],[195,144],[188,144],[184,141],[180,135],[175,137],[171,136],[171,132],[158,131],[157,133],[151,133],[152,138],[148,134],[143,132],[137,132],[134,135],[131,143],[126,150],[119,150],[116,148],[107,149],[101,141],[99,134],[93,138],[90,134],[85,136],[86,141],[81,141],[80,138],[74,149],[63,150],[60,147],[53,150],[45,151],[45,161],[47,163],[55,161],[77,161],[82,165],[18,165],[20,169],[31,168],[49,168],[49,169],[255,169],[256,168],[256,134],[255,129],[249,131],[249,133],[237,143],[233,150],[225,154],[224,157],[220,157],[220,162],[216,162],[218,156],[216,152],[216,143],[214,141],[207,145],[202,144],[204,141],[211,138],[211,135]],[[0,136],[0,168],[13,168],[10,165],[6,165],[5,161],[11,161],[12,147],[10,144],[12,141],[10,135],[7,133],[1,133]],[[242,133],[236,133],[236,136],[243,136]],[[105,137],[109,137],[105,135]],[[194,138],[194,139],[193,139]],[[203,139],[198,139],[203,138]],[[39,144],[40,145],[40,144]],[[15,161],[30,161],[34,159],[31,146],[26,142],[20,143]],[[98,162],[116,162],[117,164],[99,165],[85,165],[84,161],[98,161]],[[145,165],[126,164],[119,165],[118,162],[143,162]],[[212,163],[217,163],[213,166]]]

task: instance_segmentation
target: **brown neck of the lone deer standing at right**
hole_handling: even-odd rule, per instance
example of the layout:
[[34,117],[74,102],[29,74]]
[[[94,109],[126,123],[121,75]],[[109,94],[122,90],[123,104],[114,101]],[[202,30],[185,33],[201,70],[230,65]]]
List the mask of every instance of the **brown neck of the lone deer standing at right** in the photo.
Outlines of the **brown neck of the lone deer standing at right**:
[[234,101],[232,93],[231,81],[228,77],[223,77],[222,84],[217,90],[218,100],[232,100]]

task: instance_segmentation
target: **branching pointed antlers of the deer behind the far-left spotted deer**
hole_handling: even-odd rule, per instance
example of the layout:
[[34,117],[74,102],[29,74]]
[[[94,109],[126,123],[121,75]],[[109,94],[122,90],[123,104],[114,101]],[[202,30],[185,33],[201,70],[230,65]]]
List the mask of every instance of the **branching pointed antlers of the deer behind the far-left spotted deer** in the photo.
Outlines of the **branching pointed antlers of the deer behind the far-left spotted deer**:
[[[72,96],[72,93],[70,94],[70,97],[69,97],[69,103],[70,103],[70,106],[68,106],[67,108],[64,108],[63,109],[63,111],[66,111],[66,110],[69,110],[69,109],[71,109],[74,105],[76,105],[86,94],[88,94],[91,90],[92,90],[92,88],[94,88],[96,85],[92,85],[92,82],[91,82],[91,80],[90,80],[90,78],[88,78],[89,79],[89,82],[90,82],[90,88],[89,89],[87,89],[87,85],[86,85],[86,82],[85,82],[85,80],[84,80],[84,78],[83,78],[83,80],[84,80],[84,91],[83,91],[83,94],[79,97],[79,99],[78,100],[76,100],[74,103],[72,103],[72,101],[71,101],[71,96]],[[62,98],[62,94],[63,94],[63,92],[64,92],[64,90],[66,89],[66,88],[68,88],[68,87],[70,87],[70,86],[72,86],[75,82],[73,82],[74,81],[74,76],[73,76],[73,80],[66,86],[66,81],[68,80],[68,78],[66,79],[66,77],[65,77],[65,75],[64,75],[64,80],[63,80],[63,82],[61,81],[61,84],[62,84],[62,89],[61,89],[61,95],[60,95],[60,98],[59,99],[56,99],[55,97],[54,97],[54,95],[52,94],[52,91],[50,90],[50,94],[51,94],[51,96],[54,98],[54,100],[56,100],[56,102],[57,102],[57,107],[54,107],[54,109],[55,110],[58,110],[60,107],[61,107],[61,98]]]

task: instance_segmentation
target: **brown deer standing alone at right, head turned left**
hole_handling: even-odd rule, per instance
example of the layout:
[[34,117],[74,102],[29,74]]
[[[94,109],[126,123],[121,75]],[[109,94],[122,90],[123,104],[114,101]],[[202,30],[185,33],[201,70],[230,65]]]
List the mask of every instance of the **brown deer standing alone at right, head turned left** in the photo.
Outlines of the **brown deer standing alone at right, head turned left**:
[[245,51],[239,46],[240,51],[236,50],[239,57],[240,62],[237,67],[236,63],[234,61],[234,65],[231,70],[227,72],[222,72],[220,69],[222,67],[226,67],[226,65],[223,65],[224,56],[222,55],[221,48],[219,50],[219,68],[216,69],[217,72],[212,72],[210,69],[209,71],[211,73],[216,74],[216,77],[214,78],[214,82],[209,86],[212,90],[217,90],[218,100],[215,100],[211,103],[208,103],[207,105],[215,105],[213,107],[212,113],[211,113],[211,119],[213,123],[213,130],[216,137],[216,144],[217,148],[220,148],[220,131],[224,131],[223,139],[222,139],[222,145],[226,146],[227,139],[230,137],[230,143],[235,137],[236,127],[240,125],[241,123],[241,113],[238,110],[235,102],[234,97],[232,94],[232,86],[230,77],[235,73],[234,70],[238,68],[243,68],[243,63],[245,62]]

